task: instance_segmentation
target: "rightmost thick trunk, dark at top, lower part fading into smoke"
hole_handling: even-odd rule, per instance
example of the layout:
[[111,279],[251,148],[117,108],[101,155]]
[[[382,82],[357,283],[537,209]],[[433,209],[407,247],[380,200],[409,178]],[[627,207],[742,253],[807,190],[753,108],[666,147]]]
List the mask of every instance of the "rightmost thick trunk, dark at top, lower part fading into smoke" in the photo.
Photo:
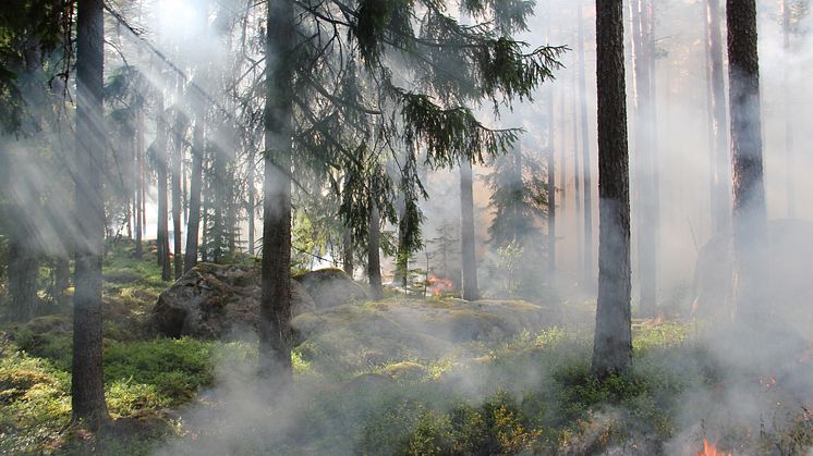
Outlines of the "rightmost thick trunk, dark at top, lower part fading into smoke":
[[756,3],[728,0],[729,100],[733,168],[735,299],[739,319],[765,323],[767,217],[762,163]]

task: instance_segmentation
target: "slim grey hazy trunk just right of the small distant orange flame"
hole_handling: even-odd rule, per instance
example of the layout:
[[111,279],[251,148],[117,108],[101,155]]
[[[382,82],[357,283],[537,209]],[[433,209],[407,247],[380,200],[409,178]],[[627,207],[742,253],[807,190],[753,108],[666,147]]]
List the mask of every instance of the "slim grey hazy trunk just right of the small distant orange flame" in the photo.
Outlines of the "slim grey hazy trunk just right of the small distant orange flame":
[[475,252],[474,236],[474,194],[472,162],[462,159],[460,161],[460,244],[463,270],[463,283],[461,289],[463,299],[480,299],[477,287],[477,257]]

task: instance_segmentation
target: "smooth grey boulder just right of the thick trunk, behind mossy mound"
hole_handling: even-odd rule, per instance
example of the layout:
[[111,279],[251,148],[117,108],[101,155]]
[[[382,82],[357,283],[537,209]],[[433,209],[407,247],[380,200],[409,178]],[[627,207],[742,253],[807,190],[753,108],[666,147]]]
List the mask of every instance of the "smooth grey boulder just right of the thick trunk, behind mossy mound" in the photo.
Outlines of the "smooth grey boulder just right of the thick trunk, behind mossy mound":
[[318,309],[367,299],[367,293],[364,288],[341,269],[319,269],[298,275],[294,279],[307,291]]

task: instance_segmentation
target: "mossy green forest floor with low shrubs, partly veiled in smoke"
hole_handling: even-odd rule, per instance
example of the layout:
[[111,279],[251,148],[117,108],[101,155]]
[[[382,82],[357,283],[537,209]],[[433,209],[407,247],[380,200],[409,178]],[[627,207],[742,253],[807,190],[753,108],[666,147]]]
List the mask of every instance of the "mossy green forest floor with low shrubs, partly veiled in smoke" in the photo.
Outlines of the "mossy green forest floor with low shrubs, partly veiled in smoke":
[[0,453],[697,454],[704,440],[736,454],[813,447],[810,391],[785,371],[732,368],[709,348],[708,324],[693,319],[635,320],[634,368],[598,379],[588,303],[548,303],[562,318],[461,338],[416,335],[389,318],[454,301],[391,296],[304,315],[295,384],[274,392],[253,381],[251,336],[157,336],[149,312],[166,287],[154,258],[131,259],[128,246],[108,254],[104,363],[114,424],[96,435],[69,426],[70,307],[2,325]]

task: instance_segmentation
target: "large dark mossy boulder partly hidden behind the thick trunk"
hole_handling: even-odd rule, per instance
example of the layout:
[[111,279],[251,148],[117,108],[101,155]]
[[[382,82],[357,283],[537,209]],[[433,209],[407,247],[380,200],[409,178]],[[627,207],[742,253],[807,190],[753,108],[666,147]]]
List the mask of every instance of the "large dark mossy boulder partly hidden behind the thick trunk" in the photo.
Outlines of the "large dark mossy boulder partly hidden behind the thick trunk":
[[[158,296],[153,322],[170,337],[219,338],[236,330],[256,330],[259,279],[254,267],[201,263]],[[291,298],[294,316],[315,308],[296,281],[291,281]]]

